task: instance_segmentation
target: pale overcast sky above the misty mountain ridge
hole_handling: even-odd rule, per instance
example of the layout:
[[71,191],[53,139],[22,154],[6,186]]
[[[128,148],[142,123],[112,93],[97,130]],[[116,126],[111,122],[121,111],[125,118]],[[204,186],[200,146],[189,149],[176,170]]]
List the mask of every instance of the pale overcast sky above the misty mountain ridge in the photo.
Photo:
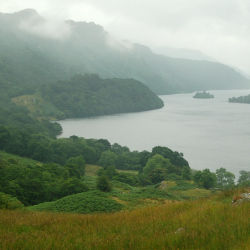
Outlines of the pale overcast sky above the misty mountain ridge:
[[1,12],[25,8],[152,48],[200,50],[250,74],[250,0],[0,0]]

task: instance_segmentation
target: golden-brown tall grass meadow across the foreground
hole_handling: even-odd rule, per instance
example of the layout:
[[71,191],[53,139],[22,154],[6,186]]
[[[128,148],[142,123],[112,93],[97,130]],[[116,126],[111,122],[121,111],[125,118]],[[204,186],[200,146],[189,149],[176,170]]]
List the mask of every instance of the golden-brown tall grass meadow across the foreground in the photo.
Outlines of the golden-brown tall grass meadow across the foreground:
[[247,250],[250,203],[232,195],[98,215],[2,210],[0,248]]

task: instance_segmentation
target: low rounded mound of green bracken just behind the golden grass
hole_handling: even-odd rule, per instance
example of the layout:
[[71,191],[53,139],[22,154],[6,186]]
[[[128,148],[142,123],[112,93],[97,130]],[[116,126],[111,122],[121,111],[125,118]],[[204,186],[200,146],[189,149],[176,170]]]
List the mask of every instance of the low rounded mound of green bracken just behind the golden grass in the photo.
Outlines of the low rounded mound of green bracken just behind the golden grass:
[[123,206],[108,198],[103,192],[91,191],[64,197],[53,202],[30,207],[34,211],[54,211],[71,213],[115,212]]

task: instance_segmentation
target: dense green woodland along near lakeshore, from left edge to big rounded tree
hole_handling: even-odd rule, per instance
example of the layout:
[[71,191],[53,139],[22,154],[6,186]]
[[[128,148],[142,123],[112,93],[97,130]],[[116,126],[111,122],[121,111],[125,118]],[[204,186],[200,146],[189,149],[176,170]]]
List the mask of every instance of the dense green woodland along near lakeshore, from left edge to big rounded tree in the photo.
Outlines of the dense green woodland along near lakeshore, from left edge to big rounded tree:
[[[131,152],[103,139],[55,139],[3,126],[0,141],[0,150],[12,154],[0,153],[0,192],[17,197],[25,205],[86,191],[85,163],[102,166],[101,176],[133,186],[191,178],[188,162],[165,147],[155,147],[152,152]],[[119,173],[119,169],[137,170],[139,174]]]

